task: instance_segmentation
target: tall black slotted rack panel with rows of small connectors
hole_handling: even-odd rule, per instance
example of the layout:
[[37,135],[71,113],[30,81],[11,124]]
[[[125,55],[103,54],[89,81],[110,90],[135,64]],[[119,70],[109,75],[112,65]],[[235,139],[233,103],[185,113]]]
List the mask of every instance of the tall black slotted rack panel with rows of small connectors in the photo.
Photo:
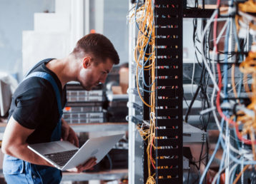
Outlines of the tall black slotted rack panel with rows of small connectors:
[[154,15],[157,88],[155,96],[156,183],[183,183],[183,1],[156,0]]

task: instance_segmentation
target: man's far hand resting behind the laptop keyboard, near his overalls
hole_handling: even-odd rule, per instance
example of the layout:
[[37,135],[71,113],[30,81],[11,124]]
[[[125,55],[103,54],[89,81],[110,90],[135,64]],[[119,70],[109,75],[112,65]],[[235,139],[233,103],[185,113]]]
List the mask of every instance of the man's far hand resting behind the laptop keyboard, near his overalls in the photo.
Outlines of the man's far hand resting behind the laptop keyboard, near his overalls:
[[68,125],[64,119],[61,118],[62,124],[61,124],[61,138],[63,140],[68,140],[70,143],[79,146],[79,141],[77,138],[76,133],[73,131],[73,129]]

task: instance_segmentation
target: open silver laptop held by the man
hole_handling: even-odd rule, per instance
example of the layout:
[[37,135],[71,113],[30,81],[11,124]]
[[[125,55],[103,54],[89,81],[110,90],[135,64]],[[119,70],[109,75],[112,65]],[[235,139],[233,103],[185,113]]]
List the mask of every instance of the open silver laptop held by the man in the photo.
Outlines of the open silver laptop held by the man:
[[97,158],[96,162],[99,163],[123,136],[124,134],[117,134],[114,136],[89,138],[81,148],[77,148],[72,143],[69,143],[69,141],[64,140],[31,144],[28,145],[28,148],[59,170],[67,170],[85,163],[92,157]]

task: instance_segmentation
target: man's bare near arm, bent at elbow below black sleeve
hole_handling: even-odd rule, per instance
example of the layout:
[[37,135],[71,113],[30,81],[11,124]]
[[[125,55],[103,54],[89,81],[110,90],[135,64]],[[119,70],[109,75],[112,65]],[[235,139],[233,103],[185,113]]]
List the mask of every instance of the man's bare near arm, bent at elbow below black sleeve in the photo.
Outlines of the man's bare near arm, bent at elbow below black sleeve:
[[4,131],[1,145],[2,152],[21,160],[26,160],[29,163],[52,166],[51,163],[48,163],[44,158],[41,158],[27,147],[26,139],[33,132],[34,130],[21,126],[11,116]]

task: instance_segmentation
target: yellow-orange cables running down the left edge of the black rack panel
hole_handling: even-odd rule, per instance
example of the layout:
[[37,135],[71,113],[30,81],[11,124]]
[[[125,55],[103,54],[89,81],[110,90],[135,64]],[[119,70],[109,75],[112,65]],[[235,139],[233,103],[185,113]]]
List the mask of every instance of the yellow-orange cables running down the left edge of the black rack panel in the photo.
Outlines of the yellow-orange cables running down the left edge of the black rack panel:
[[[137,17],[137,24],[139,26],[139,32],[137,36],[137,45],[134,48],[134,61],[137,65],[136,67],[136,82],[137,82],[137,91],[139,93],[139,98],[141,98],[142,102],[150,108],[150,113],[155,113],[155,83],[154,83],[154,72],[155,72],[155,53],[154,53],[154,10],[152,9],[153,4],[151,0],[144,1],[144,4],[137,9],[137,12],[134,14],[140,15]],[[134,16],[132,14],[132,16]],[[146,29],[147,28],[147,29]],[[151,39],[149,40],[151,35]],[[148,45],[147,51],[144,51],[144,48]],[[150,51],[149,51],[150,49]],[[147,66],[143,66],[140,62],[142,58],[144,61],[148,61],[149,64]],[[142,70],[149,71],[151,75],[151,83],[152,86],[150,90],[150,99],[149,104],[144,101],[139,91],[139,76],[138,71],[139,68]],[[150,159],[150,148],[152,147],[152,151],[154,150],[154,139],[155,139],[155,118],[150,116],[149,128],[142,128],[137,126],[137,129],[141,136],[143,136],[144,140],[147,140],[147,167],[149,172],[149,177],[147,178],[147,184],[155,183],[154,180],[154,171],[151,170],[152,163],[155,163],[154,158]],[[152,162],[152,163],[151,163]],[[153,174],[152,174],[153,173]]]

